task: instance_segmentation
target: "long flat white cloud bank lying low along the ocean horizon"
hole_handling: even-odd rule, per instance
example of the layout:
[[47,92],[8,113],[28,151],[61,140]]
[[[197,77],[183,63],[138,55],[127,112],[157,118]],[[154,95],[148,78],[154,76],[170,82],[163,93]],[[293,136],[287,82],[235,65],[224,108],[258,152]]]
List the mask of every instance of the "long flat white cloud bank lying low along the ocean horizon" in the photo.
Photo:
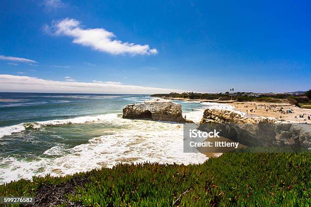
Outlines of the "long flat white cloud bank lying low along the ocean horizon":
[[29,76],[0,75],[0,88],[4,92],[67,92],[67,93],[119,93],[152,94],[182,92],[165,88],[153,88],[122,84],[84,83],[44,80]]

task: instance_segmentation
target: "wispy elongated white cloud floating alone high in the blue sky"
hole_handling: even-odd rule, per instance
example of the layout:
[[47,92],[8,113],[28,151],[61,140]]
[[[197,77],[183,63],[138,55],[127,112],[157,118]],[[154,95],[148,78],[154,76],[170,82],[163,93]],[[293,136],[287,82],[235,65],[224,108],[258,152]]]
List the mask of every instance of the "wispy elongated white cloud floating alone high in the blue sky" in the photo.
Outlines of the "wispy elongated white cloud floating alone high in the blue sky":
[[116,40],[114,33],[104,28],[83,28],[76,19],[66,18],[52,23],[52,26],[45,25],[44,31],[58,36],[72,37],[73,43],[82,46],[91,47],[101,52],[107,52],[113,55],[131,54],[131,55],[150,55],[158,54],[157,49],[150,49],[149,45],[139,45]]

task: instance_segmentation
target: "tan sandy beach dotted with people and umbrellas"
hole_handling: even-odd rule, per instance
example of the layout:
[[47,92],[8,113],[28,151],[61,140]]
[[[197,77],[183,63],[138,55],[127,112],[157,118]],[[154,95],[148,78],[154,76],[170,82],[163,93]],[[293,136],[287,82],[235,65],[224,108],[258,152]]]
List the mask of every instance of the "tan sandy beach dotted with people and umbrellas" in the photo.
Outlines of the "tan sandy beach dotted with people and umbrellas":
[[[244,112],[247,117],[273,117],[290,122],[311,124],[311,120],[307,118],[311,116],[311,109],[301,109],[290,103],[231,102],[228,104],[233,106],[235,110]],[[281,109],[282,111],[280,111]],[[300,117],[301,115],[303,117]]]

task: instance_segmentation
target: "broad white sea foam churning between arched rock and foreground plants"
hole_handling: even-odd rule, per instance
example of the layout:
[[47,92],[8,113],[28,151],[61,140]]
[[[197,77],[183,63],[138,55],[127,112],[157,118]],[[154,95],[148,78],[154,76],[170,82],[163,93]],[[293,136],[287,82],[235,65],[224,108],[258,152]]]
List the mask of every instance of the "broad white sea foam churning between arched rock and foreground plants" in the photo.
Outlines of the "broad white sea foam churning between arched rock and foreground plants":
[[[187,113],[187,117],[202,118],[202,110]],[[189,119],[187,118],[187,119]],[[63,153],[62,147],[52,147],[45,155],[59,155],[56,158],[38,158],[26,161],[13,157],[0,161],[0,183],[31,179],[32,176],[62,176],[94,168],[112,167],[116,163],[202,163],[207,157],[200,153],[183,153],[183,125],[148,120],[122,119],[117,114],[83,117],[70,120],[46,121],[45,124],[85,123],[105,121],[105,124],[122,126],[109,128],[105,134],[90,139],[87,144],[78,145]]]

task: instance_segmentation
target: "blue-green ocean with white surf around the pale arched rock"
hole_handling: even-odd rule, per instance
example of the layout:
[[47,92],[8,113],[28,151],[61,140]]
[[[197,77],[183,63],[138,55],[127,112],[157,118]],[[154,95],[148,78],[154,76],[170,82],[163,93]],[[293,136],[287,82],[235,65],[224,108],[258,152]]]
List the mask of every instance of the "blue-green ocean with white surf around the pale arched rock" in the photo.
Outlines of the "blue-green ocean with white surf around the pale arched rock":
[[[0,183],[117,162],[203,162],[204,155],[182,153],[182,124],[121,118],[127,104],[151,98],[0,93]],[[187,118],[202,117],[200,102],[175,102]]]

